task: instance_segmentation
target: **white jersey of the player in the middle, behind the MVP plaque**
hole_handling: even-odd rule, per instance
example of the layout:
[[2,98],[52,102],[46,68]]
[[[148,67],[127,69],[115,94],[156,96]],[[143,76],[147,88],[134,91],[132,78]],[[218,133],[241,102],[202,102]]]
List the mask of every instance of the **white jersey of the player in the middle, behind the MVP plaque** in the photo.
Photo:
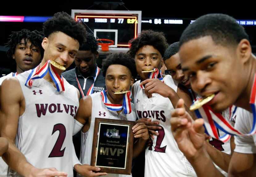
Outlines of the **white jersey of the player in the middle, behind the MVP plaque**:
[[[116,111],[111,111],[106,108],[102,102],[101,92],[93,93],[90,95],[92,97],[92,116],[91,123],[88,132],[81,133],[81,153],[80,161],[82,164],[91,164],[92,155],[92,144],[93,144],[93,131],[95,124],[95,117],[106,118],[106,119],[118,119],[118,120],[136,120],[136,114],[134,112],[134,104],[131,103],[132,112],[130,114],[124,114],[122,111],[119,115]],[[109,100],[108,100],[109,103]],[[132,175],[118,175],[118,174],[108,174],[106,176],[111,177],[131,177]]]

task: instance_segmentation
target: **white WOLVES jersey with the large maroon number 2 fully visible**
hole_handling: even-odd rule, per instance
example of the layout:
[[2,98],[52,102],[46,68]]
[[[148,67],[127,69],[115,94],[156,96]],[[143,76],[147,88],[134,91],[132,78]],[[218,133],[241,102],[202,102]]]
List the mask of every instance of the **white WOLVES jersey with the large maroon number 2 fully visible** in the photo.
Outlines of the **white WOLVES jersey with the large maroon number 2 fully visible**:
[[33,166],[55,167],[71,177],[73,122],[79,106],[76,88],[64,79],[65,91],[58,92],[43,78],[33,80],[29,88],[25,82],[30,73],[31,70],[16,76],[26,105],[19,117],[17,148]]

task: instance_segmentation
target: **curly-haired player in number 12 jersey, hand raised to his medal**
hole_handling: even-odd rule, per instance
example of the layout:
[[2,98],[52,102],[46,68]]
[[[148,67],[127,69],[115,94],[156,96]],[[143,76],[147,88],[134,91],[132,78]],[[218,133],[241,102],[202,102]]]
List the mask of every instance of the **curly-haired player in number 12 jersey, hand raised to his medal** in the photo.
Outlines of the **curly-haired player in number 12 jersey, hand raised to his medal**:
[[[162,82],[159,79],[148,79],[149,73],[142,73],[161,68],[162,56],[167,46],[163,33],[146,30],[131,41],[129,51],[135,58],[137,73],[142,78],[142,82],[137,81],[132,88],[137,117],[156,122],[150,131],[157,131],[154,133],[157,136],[145,152],[145,177],[195,176],[192,166],[179,150],[169,130],[171,110],[179,99],[177,85],[169,75],[164,75],[163,78],[159,75]],[[191,102],[189,96],[186,96]],[[148,129],[152,127],[148,126]]]

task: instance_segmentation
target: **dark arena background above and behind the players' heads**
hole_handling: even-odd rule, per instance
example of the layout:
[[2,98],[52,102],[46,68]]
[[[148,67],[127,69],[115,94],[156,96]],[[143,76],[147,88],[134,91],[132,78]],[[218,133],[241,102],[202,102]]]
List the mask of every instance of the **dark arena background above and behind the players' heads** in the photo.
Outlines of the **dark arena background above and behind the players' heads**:
[[[110,48],[108,52],[99,50],[100,57],[97,60],[98,66],[109,53],[117,51],[127,51],[126,43],[134,37],[134,26],[143,29],[152,29],[165,33],[169,44],[179,41],[183,30],[192,23],[196,18],[209,13],[223,13],[233,16],[237,22],[244,26],[249,34],[253,53],[256,53],[256,14],[250,5],[223,4],[223,2],[204,2],[204,4],[195,4],[192,2],[174,2],[174,1],[31,1],[26,2],[10,1],[1,2],[0,6],[0,77],[10,72],[15,72],[15,65],[12,59],[6,57],[5,47],[8,37],[12,31],[21,29],[42,30],[43,22],[51,17],[54,13],[65,11],[72,15],[72,10],[122,10],[122,11],[141,11],[141,19],[137,21],[134,18],[112,18],[116,14],[109,14],[109,17],[82,17],[79,20],[86,26],[88,32],[95,32],[94,29],[110,29],[108,32],[97,31],[97,38],[110,38],[115,40],[118,31],[118,40],[120,46]],[[94,14],[95,15],[95,14]],[[11,16],[11,17],[10,17]],[[17,17],[18,16],[18,17]],[[14,22],[15,18],[22,18]],[[113,20],[114,19],[114,20]],[[112,31],[111,31],[112,30]],[[138,33],[138,29],[136,29]],[[121,37],[120,37],[121,36]],[[116,45],[116,44],[115,44]],[[117,48],[120,48],[117,50]],[[126,48],[126,49],[124,49]],[[71,65],[70,69],[74,67]]]

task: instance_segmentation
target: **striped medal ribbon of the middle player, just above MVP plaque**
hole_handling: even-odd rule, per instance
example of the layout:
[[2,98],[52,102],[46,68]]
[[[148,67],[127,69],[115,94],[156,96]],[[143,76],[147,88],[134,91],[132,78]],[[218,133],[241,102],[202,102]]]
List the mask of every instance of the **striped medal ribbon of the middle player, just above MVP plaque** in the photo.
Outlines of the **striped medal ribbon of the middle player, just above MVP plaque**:
[[104,103],[107,109],[111,111],[120,111],[124,109],[125,114],[131,113],[132,110],[131,110],[130,92],[124,93],[123,104],[109,103],[110,101],[108,100],[107,93],[105,90],[101,91],[101,96],[102,96],[102,102]]

